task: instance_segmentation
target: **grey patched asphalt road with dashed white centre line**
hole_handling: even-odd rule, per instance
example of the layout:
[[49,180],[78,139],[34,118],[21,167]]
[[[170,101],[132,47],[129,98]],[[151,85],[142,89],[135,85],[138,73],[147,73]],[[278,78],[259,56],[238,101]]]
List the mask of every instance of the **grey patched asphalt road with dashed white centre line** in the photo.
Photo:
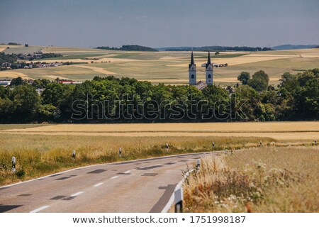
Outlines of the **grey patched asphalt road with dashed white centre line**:
[[0,187],[0,212],[160,212],[202,155],[79,167]]

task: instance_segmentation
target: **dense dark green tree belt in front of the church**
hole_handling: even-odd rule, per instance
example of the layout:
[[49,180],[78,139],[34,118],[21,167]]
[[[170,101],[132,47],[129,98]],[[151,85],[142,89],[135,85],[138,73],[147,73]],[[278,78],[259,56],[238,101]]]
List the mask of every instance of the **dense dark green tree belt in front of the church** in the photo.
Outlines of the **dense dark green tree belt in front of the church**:
[[318,120],[319,69],[286,72],[278,87],[268,85],[264,71],[252,77],[242,72],[238,79],[241,84],[235,88],[209,85],[198,90],[113,76],[76,85],[47,79],[28,84],[16,78],[11,86],[0,87],[0,122]]

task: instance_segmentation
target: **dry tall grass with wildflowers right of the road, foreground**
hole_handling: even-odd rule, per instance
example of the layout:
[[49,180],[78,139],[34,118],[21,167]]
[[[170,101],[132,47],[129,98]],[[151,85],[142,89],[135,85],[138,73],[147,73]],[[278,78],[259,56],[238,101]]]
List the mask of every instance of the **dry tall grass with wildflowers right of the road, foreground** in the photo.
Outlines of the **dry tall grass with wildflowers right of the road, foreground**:
[[184,183],[186,212],[318,212],[318,147],[269,146],[201,161]]

